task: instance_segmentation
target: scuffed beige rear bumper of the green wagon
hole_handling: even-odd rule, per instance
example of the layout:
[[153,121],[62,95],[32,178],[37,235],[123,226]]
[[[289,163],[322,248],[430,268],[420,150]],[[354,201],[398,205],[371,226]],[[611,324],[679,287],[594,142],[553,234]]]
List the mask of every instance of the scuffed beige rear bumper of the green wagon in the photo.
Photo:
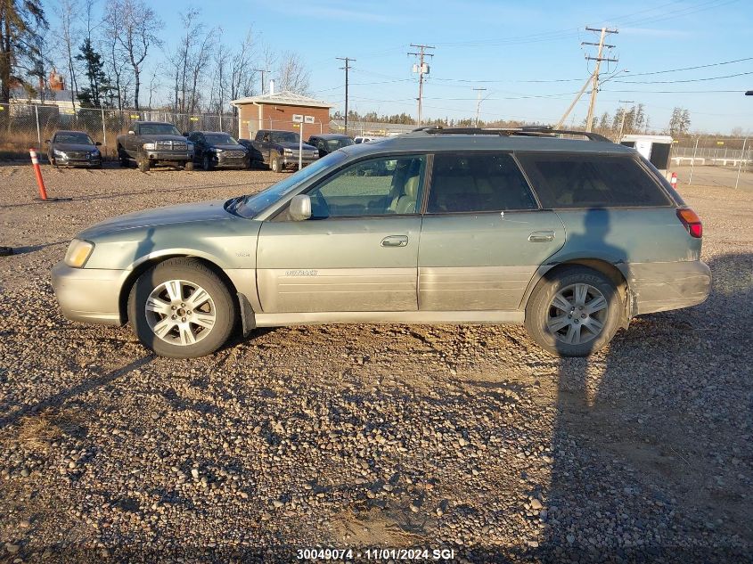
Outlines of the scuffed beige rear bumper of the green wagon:
[[629,266],[633,314],[697,306],[708,298],[711,270],[700,260]]

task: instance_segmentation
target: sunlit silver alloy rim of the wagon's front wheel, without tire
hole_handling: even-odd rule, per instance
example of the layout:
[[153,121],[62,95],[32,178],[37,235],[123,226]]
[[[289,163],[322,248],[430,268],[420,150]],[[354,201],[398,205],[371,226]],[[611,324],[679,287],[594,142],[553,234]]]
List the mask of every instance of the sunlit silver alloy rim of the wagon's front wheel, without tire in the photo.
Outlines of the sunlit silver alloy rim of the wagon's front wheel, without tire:
[[209,292],[186,280],[162,282],[151,290],[144,309],[151,332],[171,345],[198,343],[215,324],[215,303]]

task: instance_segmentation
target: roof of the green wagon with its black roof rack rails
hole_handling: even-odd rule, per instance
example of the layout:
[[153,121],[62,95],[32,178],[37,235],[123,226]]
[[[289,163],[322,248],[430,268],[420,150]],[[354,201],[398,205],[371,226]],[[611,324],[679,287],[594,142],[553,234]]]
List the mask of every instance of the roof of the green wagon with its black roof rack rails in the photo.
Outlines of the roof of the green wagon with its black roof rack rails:
[[425,130],[387,137],[379,143],[358,143],[343,147],[348,154],[384,153],[390,151],[561,151],[634,154],[635,150],[609,140],[582,140],[554,135],[518,135],[505,133],[448,133],[438,135]]

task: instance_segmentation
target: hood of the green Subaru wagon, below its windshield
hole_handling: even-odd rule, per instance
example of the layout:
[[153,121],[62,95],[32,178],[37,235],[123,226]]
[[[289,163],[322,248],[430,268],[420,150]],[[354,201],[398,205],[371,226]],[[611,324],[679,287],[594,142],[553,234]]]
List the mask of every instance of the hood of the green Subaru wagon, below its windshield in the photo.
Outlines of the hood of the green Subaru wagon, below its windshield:
[[233,216],[225,211],[225,201],[210,200],[167,208],[144,209],[125,216],[106,219],[78,233],[77,237],[92,240],[102,235],[129,229],[227,219]]

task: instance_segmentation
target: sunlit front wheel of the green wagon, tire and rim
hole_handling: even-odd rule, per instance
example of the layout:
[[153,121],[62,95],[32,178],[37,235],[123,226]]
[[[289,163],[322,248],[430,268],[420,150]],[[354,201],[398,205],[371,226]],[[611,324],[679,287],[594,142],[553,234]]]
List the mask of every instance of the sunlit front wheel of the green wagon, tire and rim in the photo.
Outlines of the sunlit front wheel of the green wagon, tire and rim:
[[[192,303],[200,292],[201,301]],[[189,309],[197,305],[201,310]],[[180,257],[139,276],[128,296],[128,319],[143,346],[157,355],[196,358],[225,344],[238,320],[238,308],[217,274],[195,258]]]

